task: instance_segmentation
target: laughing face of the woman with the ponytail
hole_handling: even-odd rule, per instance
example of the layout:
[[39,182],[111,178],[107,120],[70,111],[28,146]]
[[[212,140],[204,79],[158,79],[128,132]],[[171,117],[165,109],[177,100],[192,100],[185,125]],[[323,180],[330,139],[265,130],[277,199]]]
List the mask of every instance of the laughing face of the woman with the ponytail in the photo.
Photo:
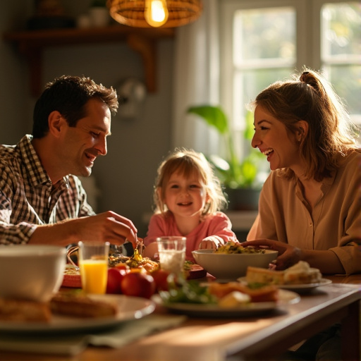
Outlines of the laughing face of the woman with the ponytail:
[[290,168],[296,173],[302,169],[296,135],[290,134],[286,126],[271,116],[262,106],[255,109],[255,135],[252,147],[258,148],[267,156],[272,171]]

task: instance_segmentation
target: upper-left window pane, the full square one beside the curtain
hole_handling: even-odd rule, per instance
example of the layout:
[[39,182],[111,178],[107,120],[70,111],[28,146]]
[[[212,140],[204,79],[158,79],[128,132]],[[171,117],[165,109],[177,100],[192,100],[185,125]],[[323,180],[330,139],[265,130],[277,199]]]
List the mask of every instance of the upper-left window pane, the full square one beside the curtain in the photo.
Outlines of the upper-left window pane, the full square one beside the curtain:
[[293,8],[235,11],[233,23],[235,66],[259,59],[295,59]]

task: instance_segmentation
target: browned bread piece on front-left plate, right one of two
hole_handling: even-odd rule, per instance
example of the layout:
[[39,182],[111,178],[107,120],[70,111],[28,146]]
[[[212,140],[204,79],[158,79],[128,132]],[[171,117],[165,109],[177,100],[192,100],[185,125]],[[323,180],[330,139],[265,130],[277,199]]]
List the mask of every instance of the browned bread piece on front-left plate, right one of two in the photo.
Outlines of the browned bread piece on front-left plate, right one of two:
[[93,300],[85,295],[58,293],[50,300],[51,312],[72,317],[98,318],[114,317],[116,305]]

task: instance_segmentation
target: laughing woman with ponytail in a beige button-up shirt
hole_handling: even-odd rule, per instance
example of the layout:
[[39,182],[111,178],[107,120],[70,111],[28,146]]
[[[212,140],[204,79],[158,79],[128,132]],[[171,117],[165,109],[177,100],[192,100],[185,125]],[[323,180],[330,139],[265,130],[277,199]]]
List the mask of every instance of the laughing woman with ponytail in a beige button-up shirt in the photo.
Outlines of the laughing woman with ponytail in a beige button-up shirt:
[[252,103],[252,147],[271,174],[243,245],[279,251],[276,269],[301,259],[323,274],[361,271],[361,150],[331,85],[307,70],[275,82]]

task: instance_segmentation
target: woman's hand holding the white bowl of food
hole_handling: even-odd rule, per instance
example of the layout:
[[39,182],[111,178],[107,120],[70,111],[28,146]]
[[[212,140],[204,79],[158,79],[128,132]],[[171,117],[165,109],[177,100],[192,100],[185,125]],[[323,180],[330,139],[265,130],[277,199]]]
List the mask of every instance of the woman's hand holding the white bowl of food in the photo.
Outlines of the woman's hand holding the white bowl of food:
[[288,245],[288,243],[280,242],[279,240],[247,240],[243,242],[244,247],[251,246],[255,248],[266,248],[269,250],[275,250],[279,252],[279,255],[274,262],[276,269],[286,269],[293,264],[296,264],[301,259],[301,250],[298,247]]

